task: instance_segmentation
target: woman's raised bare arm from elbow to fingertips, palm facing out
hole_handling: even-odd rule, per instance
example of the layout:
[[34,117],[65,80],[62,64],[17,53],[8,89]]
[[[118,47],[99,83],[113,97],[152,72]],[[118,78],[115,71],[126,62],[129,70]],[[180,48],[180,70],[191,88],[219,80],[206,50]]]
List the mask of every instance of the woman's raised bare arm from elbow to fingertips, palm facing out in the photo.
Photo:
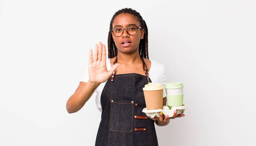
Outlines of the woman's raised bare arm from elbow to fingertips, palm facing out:
[[68,113],[78,112],[92,96],[95,89],[101,83],[107,81],[119,66],[119,64],[116,63],[109,71],[107,70],[106,47],[104,44],[102,45],[101,42],[99,42],[99,45],[95,45],[94,52],[94,56],[92,50],[89,52],[89,81],[87,83],[80,82],[75,93],[67,100],[66,109]]

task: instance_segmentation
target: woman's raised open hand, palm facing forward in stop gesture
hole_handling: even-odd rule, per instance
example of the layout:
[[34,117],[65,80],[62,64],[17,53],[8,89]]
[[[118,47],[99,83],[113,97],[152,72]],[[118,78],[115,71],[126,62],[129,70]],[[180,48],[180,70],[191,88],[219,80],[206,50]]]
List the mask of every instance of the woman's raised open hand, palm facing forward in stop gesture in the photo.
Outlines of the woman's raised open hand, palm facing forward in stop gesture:
[[89,53],[89,81],[92,83],[104,83],[111,77],[111,74],[118,66],[119,64],[116,63],[109,71],[107,70],[106,47],[99,42],[99,45],[96,44],[95,46],[94,55],[92,50],[90,50]]

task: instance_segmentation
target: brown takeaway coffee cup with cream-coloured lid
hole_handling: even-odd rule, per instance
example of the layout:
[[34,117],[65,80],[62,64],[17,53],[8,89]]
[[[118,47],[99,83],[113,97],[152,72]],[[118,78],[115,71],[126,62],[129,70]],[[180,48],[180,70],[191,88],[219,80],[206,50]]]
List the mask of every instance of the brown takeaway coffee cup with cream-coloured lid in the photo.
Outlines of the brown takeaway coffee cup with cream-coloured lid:
[[143,88],[146,108],[163,109],[163,86],[158,83],[148,83]]

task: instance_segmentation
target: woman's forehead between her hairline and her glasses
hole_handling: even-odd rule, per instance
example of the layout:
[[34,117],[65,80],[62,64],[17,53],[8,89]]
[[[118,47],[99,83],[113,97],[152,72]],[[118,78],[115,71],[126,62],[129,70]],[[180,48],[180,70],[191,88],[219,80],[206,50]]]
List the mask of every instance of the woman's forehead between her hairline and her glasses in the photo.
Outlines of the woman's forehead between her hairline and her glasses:
[[115,17],[112,26],[113,28],[115,26],[127,27],[129,24],[135,24],[137,26],[140,26],[140,23],[138,22],[134,15],[122,13]]

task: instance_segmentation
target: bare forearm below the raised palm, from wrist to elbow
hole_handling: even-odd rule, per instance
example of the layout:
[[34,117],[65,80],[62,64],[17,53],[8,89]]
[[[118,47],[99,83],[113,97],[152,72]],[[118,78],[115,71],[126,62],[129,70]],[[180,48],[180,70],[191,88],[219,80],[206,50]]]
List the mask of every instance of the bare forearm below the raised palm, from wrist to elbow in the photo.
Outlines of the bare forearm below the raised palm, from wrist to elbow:
[[92,96],[95,89],[99,86],[99,83],[92,83],[90,80],[85,82],[80,82],[74,94],[72,94],[67,100],[66,109],[68,113],[78,112],[84,104]]

